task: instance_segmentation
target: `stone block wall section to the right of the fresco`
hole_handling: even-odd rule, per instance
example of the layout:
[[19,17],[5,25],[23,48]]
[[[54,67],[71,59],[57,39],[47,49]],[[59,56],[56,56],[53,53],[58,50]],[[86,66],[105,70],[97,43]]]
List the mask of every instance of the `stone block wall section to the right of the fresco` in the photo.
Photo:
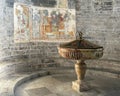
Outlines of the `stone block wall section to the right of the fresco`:
[[77,30],[104,47],[103,59],[120,61],[119,0],[77,0]]

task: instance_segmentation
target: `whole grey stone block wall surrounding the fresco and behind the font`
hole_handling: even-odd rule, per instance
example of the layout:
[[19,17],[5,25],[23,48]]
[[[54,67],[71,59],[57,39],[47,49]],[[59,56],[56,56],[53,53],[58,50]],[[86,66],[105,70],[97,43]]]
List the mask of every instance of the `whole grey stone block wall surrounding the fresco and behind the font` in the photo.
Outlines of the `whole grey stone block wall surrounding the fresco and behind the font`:
[[[59,67],[62,65],[60,61],[66,62],[57,52],[60,42],[14,43],[14,2],[34,5],[32,1],[0,0],[0,60],[22,61],[18,63],[19,66],[16,65],[16,70],[24,68],[24,71],[32,67],[36,68],[36,66],[38,69],[47,66]],[[75,0],[68,1],[69,7],[73,8]],[[82,31],[85,39],[104,47],[102,59],[120,61],[119,6],[119,0],[76,0],[77,31]],[[66,64],[66,66],[69,65]]]

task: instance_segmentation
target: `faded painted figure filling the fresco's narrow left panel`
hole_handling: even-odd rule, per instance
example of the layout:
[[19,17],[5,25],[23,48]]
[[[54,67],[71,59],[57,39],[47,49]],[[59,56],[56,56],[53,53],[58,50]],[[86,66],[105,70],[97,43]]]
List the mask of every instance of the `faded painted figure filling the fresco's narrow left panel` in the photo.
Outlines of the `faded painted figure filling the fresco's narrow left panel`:
[[[28,9],[24,6],[17,6],[16,9],[16,15],[17,15],[17,28],[18,32],[17,34],[20,34],[19,38],[20,40],[28,40],[28,34],[29,34],[29,19],[28,19]],[[17,35],[16,34],[16,35]]]

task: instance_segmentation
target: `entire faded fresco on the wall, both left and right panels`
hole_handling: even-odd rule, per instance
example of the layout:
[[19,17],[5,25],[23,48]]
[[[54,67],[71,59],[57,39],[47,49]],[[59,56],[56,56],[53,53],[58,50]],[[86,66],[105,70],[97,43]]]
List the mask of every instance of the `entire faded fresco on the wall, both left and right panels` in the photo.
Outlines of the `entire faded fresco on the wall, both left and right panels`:
[[73,39],[76,32],[75,9],[59,5],[60,8],[43,8],[16,3],[15,42]]

